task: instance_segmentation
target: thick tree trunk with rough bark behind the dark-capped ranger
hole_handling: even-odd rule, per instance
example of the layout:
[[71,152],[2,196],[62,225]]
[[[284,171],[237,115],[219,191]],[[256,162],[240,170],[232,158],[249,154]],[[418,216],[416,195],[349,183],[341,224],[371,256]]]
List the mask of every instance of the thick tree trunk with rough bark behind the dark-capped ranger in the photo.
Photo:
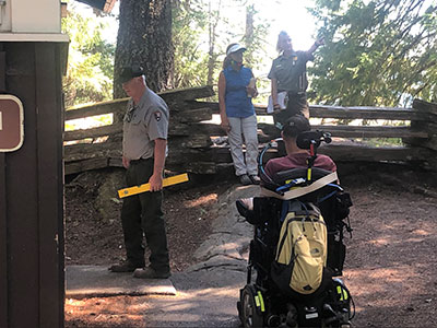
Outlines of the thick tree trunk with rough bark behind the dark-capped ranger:
[[123,66],[140,63],[149,87],[160,92],[169,85],[173,70],[170,0],[121,0],[114,65],[114,98],[126,94],[119,82]]

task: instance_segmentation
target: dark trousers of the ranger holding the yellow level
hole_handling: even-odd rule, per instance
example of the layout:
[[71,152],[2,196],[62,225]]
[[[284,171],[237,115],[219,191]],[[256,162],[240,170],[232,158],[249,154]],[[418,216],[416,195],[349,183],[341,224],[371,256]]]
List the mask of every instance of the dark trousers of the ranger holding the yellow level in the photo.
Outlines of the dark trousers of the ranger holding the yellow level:
[[[131,161],[126,174],[128,187],[146,184],[152,173],[153,159]],[[169,261],[162,201],[162,191],[126,197],[121,208],[121,224],[127,258],[137,265],[144,265],[144,233],[151,250],[151,267],[158,272],[167,272]]]

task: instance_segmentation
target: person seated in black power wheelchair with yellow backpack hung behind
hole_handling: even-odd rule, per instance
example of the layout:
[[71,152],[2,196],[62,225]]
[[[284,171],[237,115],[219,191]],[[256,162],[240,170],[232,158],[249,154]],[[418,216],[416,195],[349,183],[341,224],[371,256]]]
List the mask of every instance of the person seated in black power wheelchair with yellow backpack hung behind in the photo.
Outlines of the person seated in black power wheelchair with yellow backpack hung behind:
[[269,147],[259,156],[261,197],[236,202],[255,226],[247,284],[237,303],[240,320],[244,327],[350,327],[352,296],[333,277],[342,274],[352,202],[339,186],[335,163],[317,154],[330,134],[310,131],[302,115],[291,117],[281,134],[287,155],[265,167]]

